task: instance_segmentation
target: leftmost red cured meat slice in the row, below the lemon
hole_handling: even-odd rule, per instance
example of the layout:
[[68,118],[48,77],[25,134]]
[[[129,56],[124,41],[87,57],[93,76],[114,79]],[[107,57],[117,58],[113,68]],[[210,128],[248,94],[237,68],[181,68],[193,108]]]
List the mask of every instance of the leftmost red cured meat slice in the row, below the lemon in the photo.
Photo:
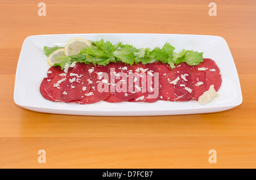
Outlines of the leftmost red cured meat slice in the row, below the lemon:
[[69,72],[66,74],[59,66],[49,68],[47,78],[44,78],[40,85],[42,96],[53,102],[62,102],[61,91]]

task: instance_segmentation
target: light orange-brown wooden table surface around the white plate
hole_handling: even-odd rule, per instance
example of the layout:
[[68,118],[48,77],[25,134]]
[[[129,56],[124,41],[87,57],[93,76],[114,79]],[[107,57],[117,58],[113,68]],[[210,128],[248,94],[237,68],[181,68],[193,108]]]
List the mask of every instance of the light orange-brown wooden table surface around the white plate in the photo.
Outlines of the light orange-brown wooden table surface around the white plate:
[[[0,1],[0,168],[256,168],[256,2]],[[70,3],[72,2],[72,3]],[[15,105],[15,70],[27,36],[60,33],[216,35],[228,42],[243,93],[225,112],[97,117]],[[35,57],[36,58],[36,57]],[[38,151],[46,151],[46,163]],[[209,163],[209,150],[217,163]]]

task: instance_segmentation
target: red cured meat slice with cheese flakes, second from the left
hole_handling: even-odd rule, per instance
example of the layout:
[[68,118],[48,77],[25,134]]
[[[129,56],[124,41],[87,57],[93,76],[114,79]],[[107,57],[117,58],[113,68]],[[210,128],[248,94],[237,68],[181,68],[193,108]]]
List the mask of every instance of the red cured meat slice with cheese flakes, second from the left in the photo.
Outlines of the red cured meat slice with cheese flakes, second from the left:
[[67,80],[63,83],[60,97],[64,102],[81,100],[90,91],[90,71],[93,67],[85,63],[76,63],[76,66],[66,76]]

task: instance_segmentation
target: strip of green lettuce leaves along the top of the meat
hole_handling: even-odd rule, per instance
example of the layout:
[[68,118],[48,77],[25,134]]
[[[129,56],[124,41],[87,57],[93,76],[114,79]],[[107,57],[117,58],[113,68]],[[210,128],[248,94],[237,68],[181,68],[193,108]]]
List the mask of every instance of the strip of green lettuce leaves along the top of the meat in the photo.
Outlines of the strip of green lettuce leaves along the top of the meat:
[[[134,63],[141,62],[143,65],[151,63],[152,61],[161,61],[162,63],[168,63],[173,69],[174,66],[181,62],[185,62],[188,65],[194,66],[203,62],[203,53],[195,52],[193,50],[181,50],[179,53],[174,52],[174,46],[166,42],[162,49],[156,47],[150,48],[134,48],[132,45],[124,45],[122,42],[118,42],[113,45],[111,42],[92,41],[91,46],[84,48],[79,54],[71,56],[57,57],[61,60],[60,63],[55,63],[54,66],[60,66],[61,70],[64,69],[68,63],[70,66],[72,62],[82,62],[85,64],[93,63],[94,65],[106,66],[110,62],[121,61],[123,63],[133,65]],[[44,52],[48,56],[56,49],[64,47],[47,47],[44,46]]]

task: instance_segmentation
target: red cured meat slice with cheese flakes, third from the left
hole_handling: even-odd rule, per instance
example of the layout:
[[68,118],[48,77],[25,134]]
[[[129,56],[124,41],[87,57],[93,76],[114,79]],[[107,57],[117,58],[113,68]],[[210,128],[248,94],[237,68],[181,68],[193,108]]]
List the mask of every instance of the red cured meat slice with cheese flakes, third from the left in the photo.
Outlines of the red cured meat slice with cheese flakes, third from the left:
[[92,66],[90,80],[92,81],[90,91],[81,100],[75,100],[79,104],[92,104],[101,100],[105,100],[110,95],[109,85],[109,67],[108,66]]

